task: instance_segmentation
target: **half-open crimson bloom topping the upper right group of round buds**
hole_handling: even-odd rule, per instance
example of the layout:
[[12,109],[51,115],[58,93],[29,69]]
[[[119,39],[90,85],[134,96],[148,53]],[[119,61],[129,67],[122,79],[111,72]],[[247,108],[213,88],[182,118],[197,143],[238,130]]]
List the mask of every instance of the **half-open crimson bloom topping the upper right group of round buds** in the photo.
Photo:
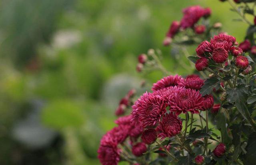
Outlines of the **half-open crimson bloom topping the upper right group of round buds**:
[[214,38],[211,39],[212,50],[215,48],[224,48],[226,51],[228,51],[233,45],[236,44],[236,38],[226,34],[219,34],[218,36],[214,36]]

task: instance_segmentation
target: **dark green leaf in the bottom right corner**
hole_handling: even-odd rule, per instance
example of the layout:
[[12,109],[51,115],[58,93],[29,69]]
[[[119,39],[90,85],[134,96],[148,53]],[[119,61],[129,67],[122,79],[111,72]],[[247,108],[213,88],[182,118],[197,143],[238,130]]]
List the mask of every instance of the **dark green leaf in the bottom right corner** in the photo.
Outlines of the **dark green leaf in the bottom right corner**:
[[243,163],[245,165],[254,165],[256,157],[256,132],[250,134],[248,144],[246,145],[247,153],[244,155]]

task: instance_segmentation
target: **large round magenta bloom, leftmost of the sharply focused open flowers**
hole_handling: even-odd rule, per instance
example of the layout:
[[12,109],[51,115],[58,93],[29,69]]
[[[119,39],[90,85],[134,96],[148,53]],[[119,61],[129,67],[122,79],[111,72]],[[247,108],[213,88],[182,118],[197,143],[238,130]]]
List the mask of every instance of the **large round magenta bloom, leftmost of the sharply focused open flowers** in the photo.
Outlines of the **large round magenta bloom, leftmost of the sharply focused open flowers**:
[[142,127],[154,126],[166,113],[166,106],[159,95],[144,93],[132,106],[132,121]]

